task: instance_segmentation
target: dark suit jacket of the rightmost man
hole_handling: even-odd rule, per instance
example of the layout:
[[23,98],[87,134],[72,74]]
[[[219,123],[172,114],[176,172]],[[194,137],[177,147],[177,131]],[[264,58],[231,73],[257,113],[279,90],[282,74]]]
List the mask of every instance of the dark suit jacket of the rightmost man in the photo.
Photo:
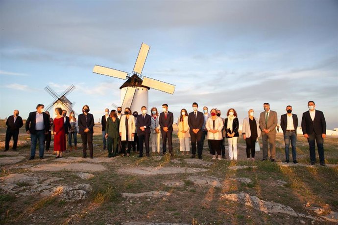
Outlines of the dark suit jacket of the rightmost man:
[[316,110],[314,114],[314,121],[310,116],[310,111],[304,112],[302,117],[302,131],[303,134],[326,134],[326,121],[324,113]]

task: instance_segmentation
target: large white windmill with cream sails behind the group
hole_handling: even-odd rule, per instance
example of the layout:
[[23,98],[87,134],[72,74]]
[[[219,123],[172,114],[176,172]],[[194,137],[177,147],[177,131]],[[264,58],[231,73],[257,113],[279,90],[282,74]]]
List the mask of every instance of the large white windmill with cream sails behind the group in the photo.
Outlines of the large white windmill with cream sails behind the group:
[[122,110],[129,107],[131,111],[141,113],[142,106],[146,106],[148,109],[148,91],[150,88],[167,92],[169,94],[174,93],[175,85],[141,75],[149,49],[150,47],[148,45],[142,43],[139,55],[137,56],[133,68],[132,76],[130,76],[130,73],[121,70],[97,65],[95,65],[93,69],[93,72],[97,74],[120,78],[123,80],[127,79],[127,81],[120,87]]

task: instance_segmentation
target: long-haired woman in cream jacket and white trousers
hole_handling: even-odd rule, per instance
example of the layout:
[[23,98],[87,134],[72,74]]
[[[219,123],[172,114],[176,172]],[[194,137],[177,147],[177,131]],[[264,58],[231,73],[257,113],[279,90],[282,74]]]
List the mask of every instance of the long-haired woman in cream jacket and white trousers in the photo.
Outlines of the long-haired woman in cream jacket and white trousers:
[[181,114],[177,120],[178,139],[180,140],[180,152],[182,155],[187,155],[190,152],[190,133],[188,124],[188,112],[186,109],[181,110]]

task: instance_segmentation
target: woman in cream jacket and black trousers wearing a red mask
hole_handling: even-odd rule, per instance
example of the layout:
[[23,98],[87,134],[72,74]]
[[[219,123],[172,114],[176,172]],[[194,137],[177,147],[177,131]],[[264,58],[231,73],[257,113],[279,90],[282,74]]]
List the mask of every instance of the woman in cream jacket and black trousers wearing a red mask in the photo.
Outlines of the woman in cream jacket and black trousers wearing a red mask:
[[220,146],[223,140],[222,129],[223,129],[223,120],[217,116],[216,109],[212,109],[210,111],[211,117],[208,118],[205,128],[208,131],[208,141],[210,141],[211,145],[211,154],[213,155],[213,159],[221,160],[220,156]]

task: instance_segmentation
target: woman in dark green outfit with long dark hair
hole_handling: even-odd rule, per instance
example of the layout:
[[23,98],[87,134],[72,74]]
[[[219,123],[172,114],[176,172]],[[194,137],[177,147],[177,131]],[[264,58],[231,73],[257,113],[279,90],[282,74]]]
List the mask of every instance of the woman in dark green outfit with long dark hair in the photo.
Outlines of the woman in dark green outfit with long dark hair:
[[120,119],[117,117],[116,111],[110,111],[110,116],[107,119],[106,125],[106,138],[107,138],[107,148],[108,148],[108,157],[116,156],[116,149],[118,146],[120,138]]

